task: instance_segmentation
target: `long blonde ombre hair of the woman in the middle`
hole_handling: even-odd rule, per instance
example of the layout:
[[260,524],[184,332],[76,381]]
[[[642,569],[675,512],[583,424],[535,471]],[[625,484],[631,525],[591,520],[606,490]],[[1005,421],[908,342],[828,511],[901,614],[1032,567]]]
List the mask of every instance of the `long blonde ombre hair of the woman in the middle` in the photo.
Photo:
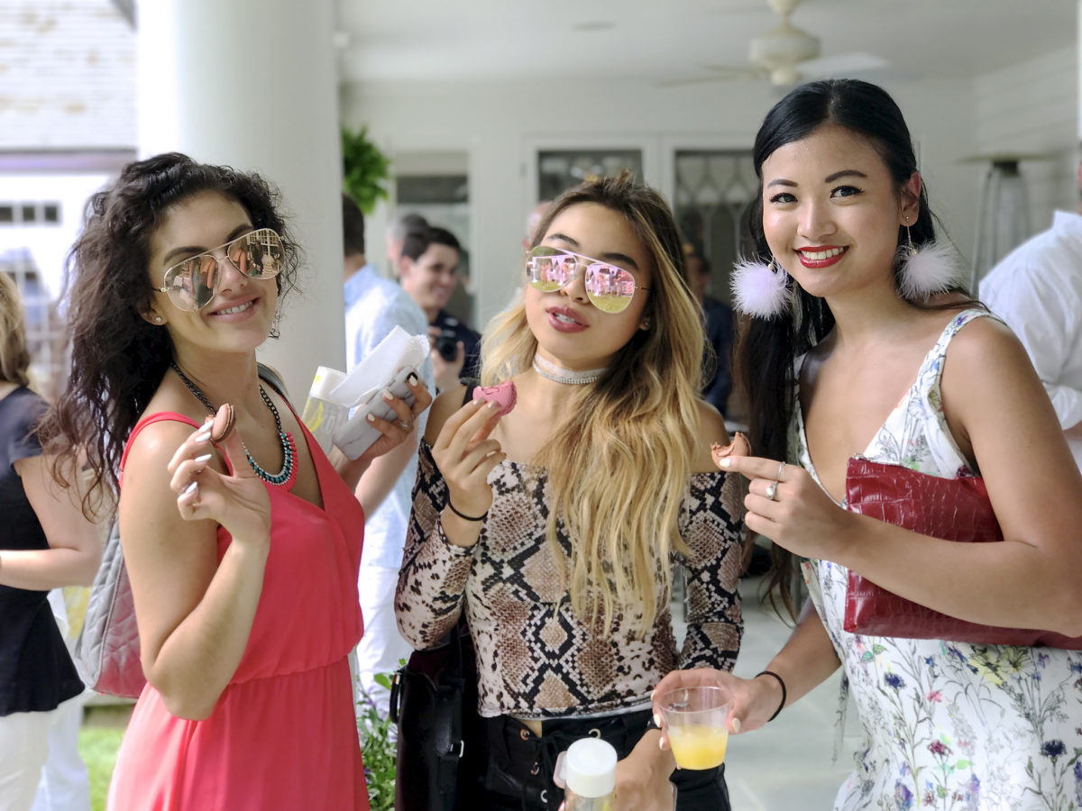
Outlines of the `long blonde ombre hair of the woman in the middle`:
[[[545,534],[580,616],[642,614],[651,627],[669,599],[670,555],[686,548],[678,533],[691,473],[702,385],[703,332],[687,287],[672,212],[630,173],[583,183],[558,197],[535,232],[579,203],[621,214],[652,260],[649,329],[616,354],[604,376],[578,394],[552,439],[533,460],[547,471],[553,501]],[[481,380],[491,385],[529,369],[537,340],[522,301],[489,322],[481,344]],[[565,555],[557,520],[570,541]]]

